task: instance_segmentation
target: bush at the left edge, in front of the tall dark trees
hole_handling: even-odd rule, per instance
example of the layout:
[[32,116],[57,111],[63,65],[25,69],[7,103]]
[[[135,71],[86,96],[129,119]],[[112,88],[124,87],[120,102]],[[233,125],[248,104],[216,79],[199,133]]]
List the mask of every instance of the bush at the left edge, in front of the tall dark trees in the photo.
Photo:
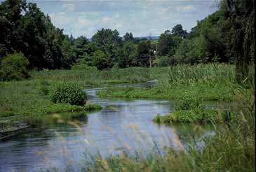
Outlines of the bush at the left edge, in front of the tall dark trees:
[[22,55],[21,52],[15,52],[7,55],[1,60],[0,78],[1,80],[21,80],[29,78],[27,66],[29,61]]

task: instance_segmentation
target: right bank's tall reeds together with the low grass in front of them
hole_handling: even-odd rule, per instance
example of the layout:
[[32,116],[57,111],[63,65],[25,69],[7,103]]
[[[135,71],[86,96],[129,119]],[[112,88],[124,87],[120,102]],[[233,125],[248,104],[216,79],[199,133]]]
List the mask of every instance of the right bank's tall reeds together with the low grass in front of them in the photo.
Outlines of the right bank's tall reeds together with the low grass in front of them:
[[[151,69],[156,70],[156,69]],[[178,99],[189,94],[204,100],[231,100],[235,69],[228,64],[198,64],[163,68],[156,87],[147,88],[109,88],[99,92],[102,97]]]

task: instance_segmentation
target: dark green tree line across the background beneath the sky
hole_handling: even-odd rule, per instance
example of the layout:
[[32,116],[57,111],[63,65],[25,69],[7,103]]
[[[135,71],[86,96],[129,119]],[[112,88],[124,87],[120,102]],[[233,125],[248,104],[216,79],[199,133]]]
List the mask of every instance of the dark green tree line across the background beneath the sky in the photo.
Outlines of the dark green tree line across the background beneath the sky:
[[158,40],[134,38],[132,33],[120,36],[116,29],[103,28],[89,41],[63,34],[36,3],[6,0],[0,5],[0,61],[6,64],[8,55],[21,52],[28,68],[37,70],[225,62],[237,64],[244,76],[255,58],[253,6],[253,0],[220,1],[219,10],[189,33],[177,24]]

